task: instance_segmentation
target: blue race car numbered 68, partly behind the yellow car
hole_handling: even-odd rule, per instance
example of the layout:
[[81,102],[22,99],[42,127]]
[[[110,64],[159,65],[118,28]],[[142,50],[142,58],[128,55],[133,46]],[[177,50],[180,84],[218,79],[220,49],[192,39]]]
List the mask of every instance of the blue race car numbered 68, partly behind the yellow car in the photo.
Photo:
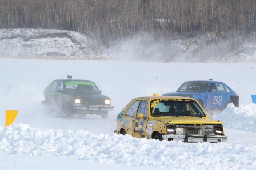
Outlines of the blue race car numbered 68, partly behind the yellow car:
[[223,82],[188,81],[184,82],[176,92],[165,93],[163,96],[182,96],[196,99],[203,109],[223,110],[229,103],[238,107],[239,96]]

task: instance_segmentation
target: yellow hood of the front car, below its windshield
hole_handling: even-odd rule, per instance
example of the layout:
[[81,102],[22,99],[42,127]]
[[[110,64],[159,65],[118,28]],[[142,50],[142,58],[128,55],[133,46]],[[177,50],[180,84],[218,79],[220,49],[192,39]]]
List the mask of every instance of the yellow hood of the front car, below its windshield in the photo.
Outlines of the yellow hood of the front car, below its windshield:
[[157,119],[164,120],[169,124],[222,124],[219,120],[199,117],[159,117]]

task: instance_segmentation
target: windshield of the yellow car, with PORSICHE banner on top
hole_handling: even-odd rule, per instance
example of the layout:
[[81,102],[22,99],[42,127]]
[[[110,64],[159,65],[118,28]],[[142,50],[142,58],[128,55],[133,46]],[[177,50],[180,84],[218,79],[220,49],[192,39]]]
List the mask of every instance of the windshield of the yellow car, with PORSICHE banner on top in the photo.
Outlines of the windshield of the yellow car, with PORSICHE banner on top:
[[190,99],[154,99],[150,103],[151,116],[206,117],[196,101]]

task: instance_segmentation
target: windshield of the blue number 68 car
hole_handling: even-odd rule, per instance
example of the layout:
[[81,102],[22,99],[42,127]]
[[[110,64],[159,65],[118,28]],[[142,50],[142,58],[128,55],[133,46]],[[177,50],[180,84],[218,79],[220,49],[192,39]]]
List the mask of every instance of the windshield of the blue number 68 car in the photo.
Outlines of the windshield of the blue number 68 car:
[[191,81],[185,82],[178,88],[177,91],[200,91],[205,92],[207,90],[208,83],[207,82],[198,82],[198,81]]

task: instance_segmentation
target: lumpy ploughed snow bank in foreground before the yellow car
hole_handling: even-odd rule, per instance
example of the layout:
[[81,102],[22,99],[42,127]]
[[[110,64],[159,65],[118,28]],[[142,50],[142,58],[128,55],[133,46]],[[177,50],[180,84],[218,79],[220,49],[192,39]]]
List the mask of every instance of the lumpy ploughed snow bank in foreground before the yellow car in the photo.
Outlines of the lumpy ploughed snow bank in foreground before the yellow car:
[[167,142],[114,133],[38,129],[26,124],[0,127],[0,150],[5,154],[68,156],[95,163],[171,169],[256,168],[255,146]]

